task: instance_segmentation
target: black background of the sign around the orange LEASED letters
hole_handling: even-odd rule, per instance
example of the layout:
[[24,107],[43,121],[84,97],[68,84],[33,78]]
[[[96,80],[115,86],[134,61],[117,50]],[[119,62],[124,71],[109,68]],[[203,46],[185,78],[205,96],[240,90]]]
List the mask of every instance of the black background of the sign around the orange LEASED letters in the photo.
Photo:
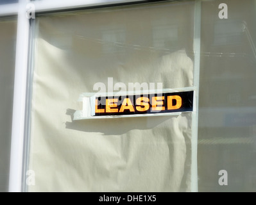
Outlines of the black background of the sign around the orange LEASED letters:
[[[179,109],[176,110],[167,110],[167,96],[171,95],[179,95],[182,98],[182,106]],[[138,114],[152,114],[152,113],[172,113],[172,112],[183,112],[183,111],[192,111],[193,108],[193,95],[194,91],[187,91],[187,92],[173,92],[173,93],[163,93],[163,94],[140,94],[140,95],[121,95],[121,96],[108,96],[108,97],[96,97],[98,99],[98,109],[106,109],[106,99],[118,99],[116,102],[117,107],[112,108],[112,109],[118,109],[120,110],[122,106],[122,102],[124,98],[130,98],[134,110],[135,111],[130,111],[130,110],[124,110],[123,112],[114,112],[114,113],[95,113],[94,116],[105,116],[105,115],[138,115]],[[151,99],[152,97],[156,96],[164,96],[164,104],[162,106],[166,107],[165,110],[157,110],[157,111],[152,111],[151,110]],[[149,98],[149,105],[150,108],[147,111],[137,111],[135,106],[136,104],[136,99],[139,97],[148,97]]]

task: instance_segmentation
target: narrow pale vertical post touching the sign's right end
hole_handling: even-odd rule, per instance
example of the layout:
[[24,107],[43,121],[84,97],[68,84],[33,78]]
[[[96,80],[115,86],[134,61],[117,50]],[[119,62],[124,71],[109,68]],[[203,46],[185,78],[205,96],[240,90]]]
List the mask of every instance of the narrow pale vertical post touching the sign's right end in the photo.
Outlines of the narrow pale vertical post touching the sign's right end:
[[201,46],[201,0],[196,0],[194,8],[194,111],[192,112],[191,139],[191,192],[198,192],[198,102],[200,83],[200,46]]

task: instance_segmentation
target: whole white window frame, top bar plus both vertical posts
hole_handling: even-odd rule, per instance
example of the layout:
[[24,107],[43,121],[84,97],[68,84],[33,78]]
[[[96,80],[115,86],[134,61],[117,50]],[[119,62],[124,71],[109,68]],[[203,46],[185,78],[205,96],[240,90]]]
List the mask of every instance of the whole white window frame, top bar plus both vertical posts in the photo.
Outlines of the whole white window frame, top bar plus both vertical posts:
[[[171,1],[171,0],[170,0]],[[191,191],[198,192],[197,143],[198,143],[198,92],[200,69],[200,25],[201,0],[195,0],[194,19],[194,86],[196,112],[192,120],[192,165]],[[24,142],[26,138],[26,102],[30,67],[31,19],[26,18],[26,5],[33,3],[35,13],[79,10],[93,6],[117,5],[126,3],[147,3],[147,0],[19,0],[19,3],[0,5],[0,18],[17,16],[17,44],[15,55],[15,80],[13,91],[12,143],[10,156],[9,192],[24,192]],[[33,38],[33,37],[32,37]],[[23,187],[23,188],[22,188]]]

